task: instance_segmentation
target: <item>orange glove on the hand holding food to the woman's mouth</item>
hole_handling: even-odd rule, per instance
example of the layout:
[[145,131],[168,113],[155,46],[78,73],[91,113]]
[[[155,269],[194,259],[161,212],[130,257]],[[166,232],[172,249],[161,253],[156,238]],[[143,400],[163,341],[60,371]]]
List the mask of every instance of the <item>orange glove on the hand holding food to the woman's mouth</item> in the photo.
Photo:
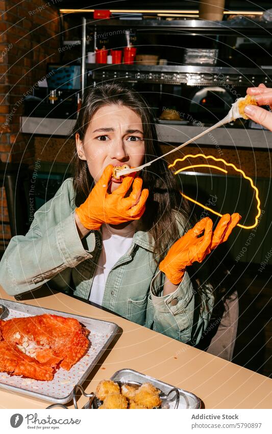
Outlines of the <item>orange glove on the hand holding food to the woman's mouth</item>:
[[[112,165],[105,168],[85,202],[76,208],[81,223],[89,230],[98,230],[103,223],[119,224],[138,220],[144,213],[149,191],[141,191],[142,179],[127,176],[116,190],[108,193],[112,169]],[[125,197],[132,182],[132,192],[129,197]]]

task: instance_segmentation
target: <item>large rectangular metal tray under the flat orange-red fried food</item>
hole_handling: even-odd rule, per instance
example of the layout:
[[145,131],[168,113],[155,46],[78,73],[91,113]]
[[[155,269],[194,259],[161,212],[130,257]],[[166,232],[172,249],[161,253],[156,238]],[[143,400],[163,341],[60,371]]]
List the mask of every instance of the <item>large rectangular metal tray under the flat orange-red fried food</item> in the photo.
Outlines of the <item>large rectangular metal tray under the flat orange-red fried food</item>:
[[119,327],[115,323],[101,321],[100,319],[89,318],[87,316],[73,315],[58,310],[44,309],[42,307],[11,302],[4,299],[1,300],[1,304],[5,305],[10,311],[9,316],[5,319],[52,313],[64,317],[76,318],[90,330],[88,338],[91,341],[91,346],[88,352],[70,371],[67,372],[61,368],[58,369],[52,381],[34,380],[0,372],[1,389],[58,404],[65,404],[72,399],[73,387],[85,381],[119,330]]

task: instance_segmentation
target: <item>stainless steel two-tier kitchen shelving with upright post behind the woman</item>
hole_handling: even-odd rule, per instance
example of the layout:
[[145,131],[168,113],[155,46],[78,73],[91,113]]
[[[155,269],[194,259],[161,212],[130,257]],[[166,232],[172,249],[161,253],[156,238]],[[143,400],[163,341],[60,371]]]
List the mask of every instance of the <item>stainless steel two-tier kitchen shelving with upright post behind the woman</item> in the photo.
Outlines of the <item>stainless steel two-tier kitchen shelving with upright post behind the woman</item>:
[[[127,19],[90,19],[86,16],[82,17],[82,94],[86,86],[86,72],[92,75],[94,81],[122,79],[126,82],[150,82],[150,83],[166,83],[166,84],[187,84],[187,85],[216,85],[222,81],[222,78],[227,84],[254,85],[260,82],[271,83],[271,70],[264,68],[237,68],[235,67],[220,67],[210,65],[112,65],[112,64],[89,64],[86,63],[86,43],[87,33],[91,31],[101,32],[102,28],[108,32],[115,29],[131,29],[134,32],[158,33],[165,35],[168,32],[171,35],[216,35],[216,40],[220,35],[232,36],[269,36],[271,37],[272,22],[253,21],[246,18],[232,19],[226,21],[207,21],[201,19],[188,20],[165,20],[165,19],[142,19],[142,20],[127,20]],[[149,77],[140,77],[144,71]],[[148,73],[146,73],[148,71]],[[131,76],[130,76],[131,73]],[[133,76],[134,74],[134,76]],[[157,75],[155,77],[155,75]],[[166,77],[168,75],[168,77]],[[209,75],[209,77],[208,77]],[[221,78],[218,79],[218,75]],[[224,77],[222,77],[224,76]]]

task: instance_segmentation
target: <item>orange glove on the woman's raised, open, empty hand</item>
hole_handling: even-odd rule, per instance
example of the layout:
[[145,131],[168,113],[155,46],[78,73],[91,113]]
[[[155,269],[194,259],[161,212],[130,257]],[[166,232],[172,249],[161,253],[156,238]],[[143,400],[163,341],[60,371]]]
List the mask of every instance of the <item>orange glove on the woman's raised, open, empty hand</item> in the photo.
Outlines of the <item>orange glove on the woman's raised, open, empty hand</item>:
[[[182,281],[186,267],[202,262],[212,249],[229,238],[234,226],[241,219],[238,213],[222,216],[212,231],[212,220],[205,217],[195,224],[169,249],[159,268],[175,285]],[[204,231],[204,234],[199,237]]]

